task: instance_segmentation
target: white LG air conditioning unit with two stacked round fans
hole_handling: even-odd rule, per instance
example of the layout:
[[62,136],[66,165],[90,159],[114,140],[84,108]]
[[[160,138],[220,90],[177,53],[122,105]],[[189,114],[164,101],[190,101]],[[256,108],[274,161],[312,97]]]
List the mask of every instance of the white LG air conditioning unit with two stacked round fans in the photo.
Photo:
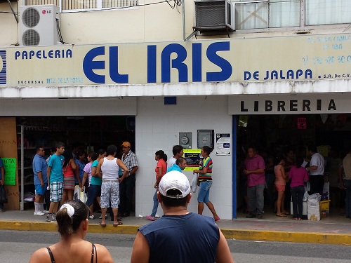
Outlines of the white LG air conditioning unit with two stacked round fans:
[[20,6],[20,46],[60,44],[60,8],[54,5]]

